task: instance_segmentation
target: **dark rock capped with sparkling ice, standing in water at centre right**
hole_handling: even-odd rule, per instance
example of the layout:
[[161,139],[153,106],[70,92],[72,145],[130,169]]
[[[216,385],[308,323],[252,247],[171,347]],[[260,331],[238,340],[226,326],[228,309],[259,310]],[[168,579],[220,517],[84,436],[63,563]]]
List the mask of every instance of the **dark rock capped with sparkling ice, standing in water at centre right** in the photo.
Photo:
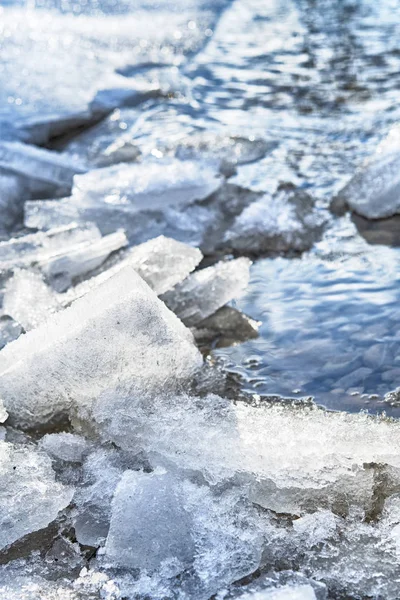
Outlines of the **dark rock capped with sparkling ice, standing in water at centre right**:
[[303,252],[323,232],[326,216],[317,212],[306,192],[284,186],[275,196],[266,194],[250,204],[227,231],[224,243],[250,254]]

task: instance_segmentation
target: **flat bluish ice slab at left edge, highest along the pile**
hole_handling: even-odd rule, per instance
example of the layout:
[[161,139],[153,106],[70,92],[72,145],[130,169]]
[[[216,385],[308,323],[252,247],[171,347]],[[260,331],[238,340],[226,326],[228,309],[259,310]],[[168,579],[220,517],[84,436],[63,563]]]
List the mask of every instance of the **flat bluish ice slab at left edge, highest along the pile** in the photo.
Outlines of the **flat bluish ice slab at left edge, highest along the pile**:
[[85,171],[56,152],[21,142],[0,143],[0,167],[22,176],[39,194],[52,188],[68,191],[74,175]]

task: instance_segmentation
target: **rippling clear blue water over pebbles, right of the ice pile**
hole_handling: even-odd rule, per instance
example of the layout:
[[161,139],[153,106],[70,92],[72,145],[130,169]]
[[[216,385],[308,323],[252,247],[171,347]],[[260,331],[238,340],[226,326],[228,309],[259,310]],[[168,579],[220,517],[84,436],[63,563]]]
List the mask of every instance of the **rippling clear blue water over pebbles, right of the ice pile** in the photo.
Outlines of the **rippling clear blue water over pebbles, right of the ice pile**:
[[400,385],[399,283],[390,248],[259,261],[238,306],[262,321],[260,337],[216,353],[252,393],[400,416],[382,403]]

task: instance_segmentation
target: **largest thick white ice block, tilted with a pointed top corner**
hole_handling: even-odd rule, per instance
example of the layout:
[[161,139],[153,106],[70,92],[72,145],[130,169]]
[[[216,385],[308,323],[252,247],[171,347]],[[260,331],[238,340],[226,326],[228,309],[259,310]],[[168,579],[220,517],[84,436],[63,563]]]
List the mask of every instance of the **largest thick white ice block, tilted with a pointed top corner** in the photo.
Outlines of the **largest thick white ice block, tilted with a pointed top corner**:
[[200,365],[190,332],[126,267],[1,351],[0,397],[26,427],[90,411],[110,388],[174,386]]

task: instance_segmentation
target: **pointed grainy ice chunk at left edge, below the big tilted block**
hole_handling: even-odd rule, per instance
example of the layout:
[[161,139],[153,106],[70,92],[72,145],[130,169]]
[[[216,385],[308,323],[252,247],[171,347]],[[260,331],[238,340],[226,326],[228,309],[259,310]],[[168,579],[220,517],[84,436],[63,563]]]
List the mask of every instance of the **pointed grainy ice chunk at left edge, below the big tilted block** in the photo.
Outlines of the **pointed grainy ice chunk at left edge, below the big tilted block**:
[[73,491],[55,481],[50,459],[28,447],[0,442],[0,547],[53,521]]

